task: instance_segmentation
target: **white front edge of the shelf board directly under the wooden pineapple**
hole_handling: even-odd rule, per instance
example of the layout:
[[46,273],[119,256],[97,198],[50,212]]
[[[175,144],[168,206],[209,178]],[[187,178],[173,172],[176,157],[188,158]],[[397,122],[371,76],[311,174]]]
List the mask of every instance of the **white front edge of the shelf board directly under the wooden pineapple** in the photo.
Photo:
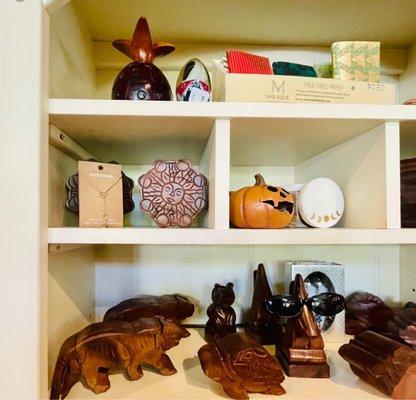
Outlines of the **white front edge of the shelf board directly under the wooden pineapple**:
[[52,123],[68,116],[361,119],[382,123],[416,120],[416,107],[370,104],[188,103],[50,99],[49,114]]

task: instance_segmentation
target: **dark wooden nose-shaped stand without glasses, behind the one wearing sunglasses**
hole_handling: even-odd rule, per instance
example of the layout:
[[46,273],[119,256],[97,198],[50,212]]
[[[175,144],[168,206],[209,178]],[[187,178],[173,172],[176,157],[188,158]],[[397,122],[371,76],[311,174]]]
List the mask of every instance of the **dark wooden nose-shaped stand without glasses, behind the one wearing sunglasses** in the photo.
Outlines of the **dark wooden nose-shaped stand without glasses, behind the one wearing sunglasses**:
[[261,344],[278,344],[282,334],[280,317],[267,311],[264,301],[272,296],[266,270],[259,264],[253,273],[254,291],[251,303],[251,321],[246,330],[255,336]]

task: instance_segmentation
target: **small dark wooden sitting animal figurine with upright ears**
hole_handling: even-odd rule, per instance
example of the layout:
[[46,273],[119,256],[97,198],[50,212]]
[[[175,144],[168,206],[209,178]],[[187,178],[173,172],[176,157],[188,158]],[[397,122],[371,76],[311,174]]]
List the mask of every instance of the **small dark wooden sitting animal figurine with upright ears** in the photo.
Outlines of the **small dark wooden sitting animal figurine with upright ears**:
[[212,289],[212,304],[208,306],[208,322],[205,326],[207,341],[226,336],[236,331],[236,315],[231,305],[234,303],[234,285],[229,282],[225,286],[218,283]]

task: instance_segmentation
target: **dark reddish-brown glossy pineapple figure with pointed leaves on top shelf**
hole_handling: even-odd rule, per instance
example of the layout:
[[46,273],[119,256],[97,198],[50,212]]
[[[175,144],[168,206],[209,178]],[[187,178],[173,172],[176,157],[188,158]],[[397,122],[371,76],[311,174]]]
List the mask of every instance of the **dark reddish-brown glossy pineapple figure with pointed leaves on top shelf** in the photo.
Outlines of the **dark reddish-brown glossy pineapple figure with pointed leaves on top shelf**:
[[171,53],[175,47],[152,43],[146,18],[141,17],[137,22],[131,41],[115,40],[113,46],[133,60],[114,81],[111,96],[114,100],[172,100],[168,80],[152,61]]

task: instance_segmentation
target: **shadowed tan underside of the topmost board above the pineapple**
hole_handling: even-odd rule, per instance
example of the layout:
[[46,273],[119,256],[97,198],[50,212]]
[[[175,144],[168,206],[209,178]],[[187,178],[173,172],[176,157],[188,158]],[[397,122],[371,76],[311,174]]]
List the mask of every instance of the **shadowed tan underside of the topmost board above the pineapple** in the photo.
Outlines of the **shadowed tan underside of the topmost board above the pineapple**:
[[[377,40],[406,48],[416,36],[409,0],[78,0],[94,41],[129,38],[140,15],[154,41],[253,45],[328,46],[337,40]],[[121,3],[121,4],[120,4]],[[97,12],[97,10],[99,10]],[[246,29],[242,29],[244,26]],[[388,29],[386,29],[388,27]]]

